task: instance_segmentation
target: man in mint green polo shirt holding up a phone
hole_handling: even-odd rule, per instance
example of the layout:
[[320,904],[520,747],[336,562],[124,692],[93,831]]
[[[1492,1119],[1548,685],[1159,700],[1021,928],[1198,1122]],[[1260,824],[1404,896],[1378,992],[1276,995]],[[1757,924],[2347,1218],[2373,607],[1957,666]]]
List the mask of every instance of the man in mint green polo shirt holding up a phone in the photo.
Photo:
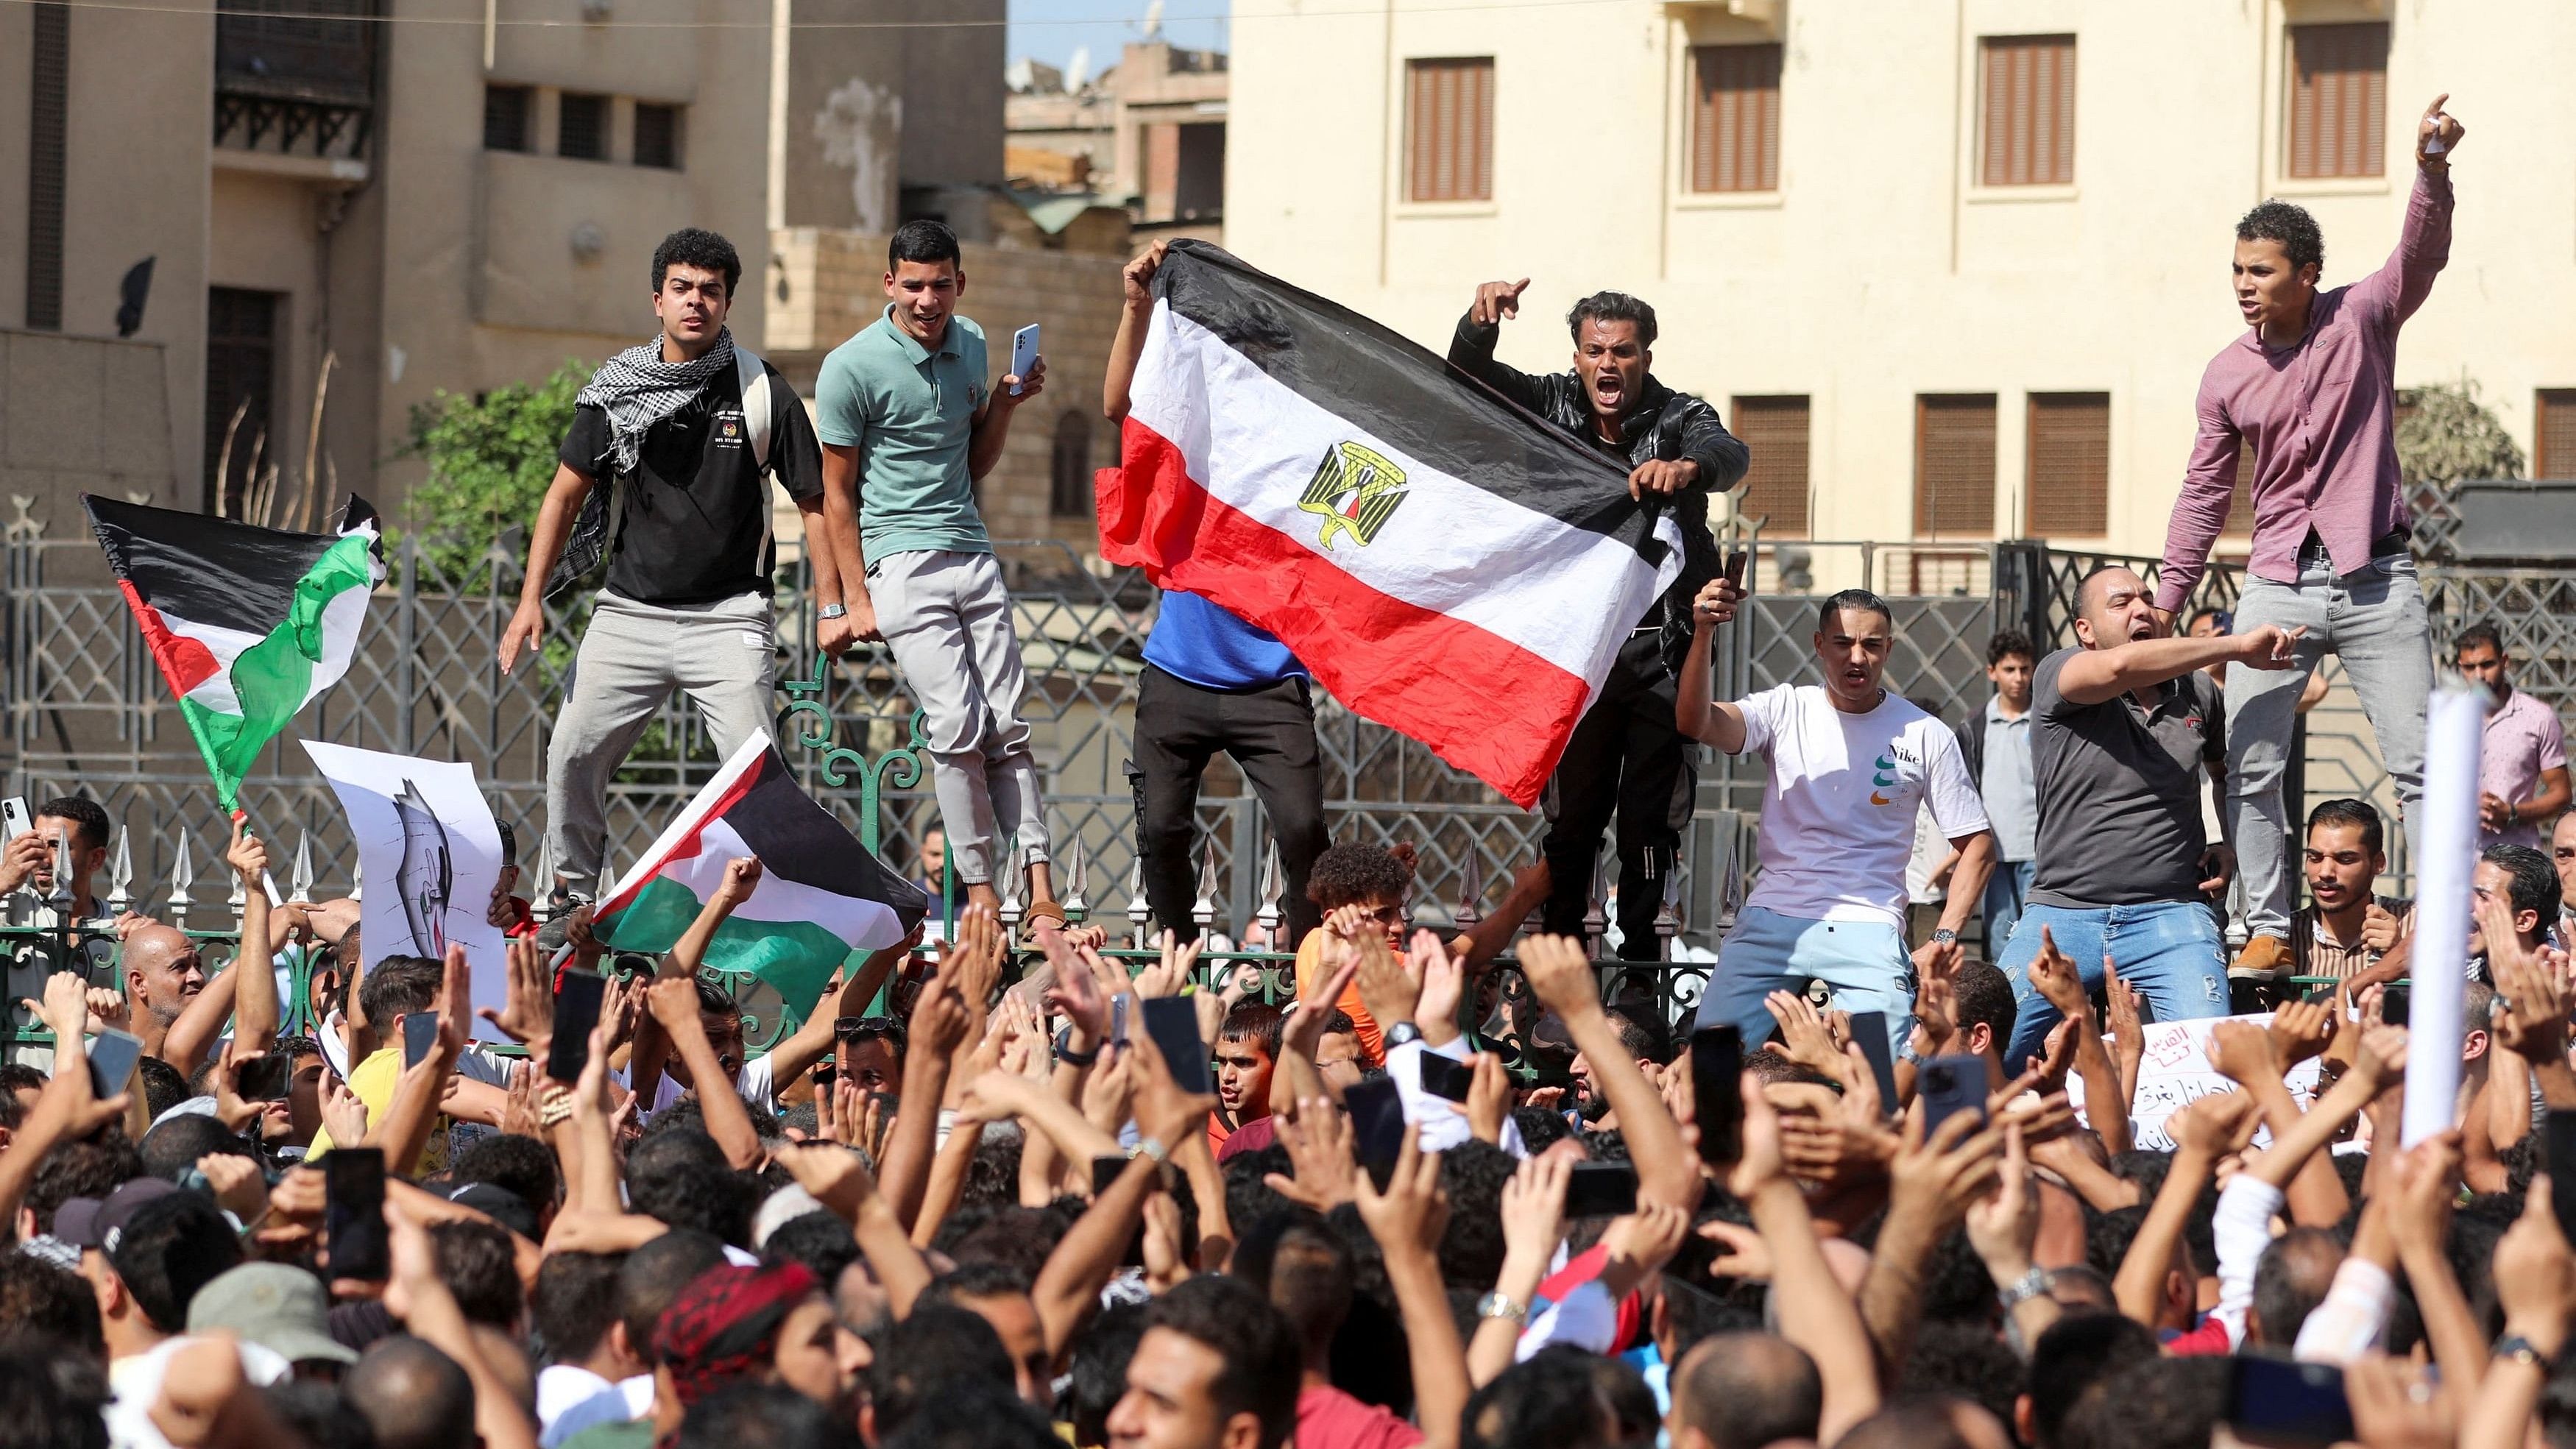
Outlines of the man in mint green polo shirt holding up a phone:
[[845,582],[822,646],[884,638],[927,715],[930,782],[969,903],[999,903],[994,872],[1028,862],[1028,916],[1064,919],[1048,885],[1046,803],[1020,700],[1010,592],[974,507],[1002,458],[1010,414],[1046,386],[1046,363],[987,386],[984,329],[956,314],[966,270],[956,234],[907,221],[886,245],[886,314],[822,363],[824,522]]

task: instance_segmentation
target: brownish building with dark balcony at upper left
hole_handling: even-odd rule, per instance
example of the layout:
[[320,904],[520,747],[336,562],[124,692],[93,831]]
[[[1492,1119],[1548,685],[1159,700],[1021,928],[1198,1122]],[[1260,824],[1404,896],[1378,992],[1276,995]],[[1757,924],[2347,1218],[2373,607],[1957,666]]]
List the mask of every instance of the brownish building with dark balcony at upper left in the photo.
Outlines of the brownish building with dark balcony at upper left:
[[410,409],[647,337],[675,226],[732,237],[762,345],[770,229],[1002,180],[1002,0],[260,10],[0,5],[0,484],[54,530],[80,489],[211,510],[227,432],[234,510],[258,443],[281,520],[307,466],[399,515]]

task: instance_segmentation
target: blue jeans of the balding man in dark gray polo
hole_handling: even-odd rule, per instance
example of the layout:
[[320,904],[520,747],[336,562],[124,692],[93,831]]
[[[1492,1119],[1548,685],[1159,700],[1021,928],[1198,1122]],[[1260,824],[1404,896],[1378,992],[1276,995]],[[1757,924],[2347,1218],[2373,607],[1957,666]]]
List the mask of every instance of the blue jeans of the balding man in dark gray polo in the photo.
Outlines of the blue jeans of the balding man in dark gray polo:
[[2151,906],[2107,906],[2069,911],[2030,906],[2012,932],[2012,945],[1994,965],[2012,981],[2012,1045],[2004,1071],[2048,1045],[2048,1032],[2063,1019],[2030,986],[2030,963],[2040,955],[2040,929],[2074,957],[2084,991],[2102,991],[2102,957],[2120,968],[2120,981],[2146,993],[2151,1022],[2190,1022],[2228,1014],[2228,968],[2221,955],[2218,916],[2200,901],[2159,901]]

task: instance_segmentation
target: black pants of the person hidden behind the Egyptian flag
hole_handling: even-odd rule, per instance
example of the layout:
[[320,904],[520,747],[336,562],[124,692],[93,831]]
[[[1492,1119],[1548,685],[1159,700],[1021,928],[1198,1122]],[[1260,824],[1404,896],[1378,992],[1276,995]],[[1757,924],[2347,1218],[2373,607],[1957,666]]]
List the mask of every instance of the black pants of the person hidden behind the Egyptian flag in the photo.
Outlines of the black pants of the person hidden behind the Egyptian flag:
[[[1198,777],[1216,754],[1231,754],[1270,813],[1288,878],[1280,909],[1288,942],[1324,924],[1306,901],[1306,872],[1324,854],[1324,767],[1314,746],[1314,697],[1306,679],[1280,679],[1262,690],[1203,690],[1151,664],[1136,687],[1136,852],[1144,857],[1144,898],[1154,921],[1180,939],[1198,937],[1190,906],[1198,901]],[[1260,870],[1260,860],[1236,860]],[[1249,921],[1236,921],[1236,934]]]

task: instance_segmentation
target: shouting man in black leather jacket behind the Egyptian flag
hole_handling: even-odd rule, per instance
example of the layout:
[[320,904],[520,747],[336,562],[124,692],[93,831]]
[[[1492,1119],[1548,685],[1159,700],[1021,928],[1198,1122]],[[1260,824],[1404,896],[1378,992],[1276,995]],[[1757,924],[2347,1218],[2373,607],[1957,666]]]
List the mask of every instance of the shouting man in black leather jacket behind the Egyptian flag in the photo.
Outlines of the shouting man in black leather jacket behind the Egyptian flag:
[[1546,906],[1553,934],[1582,934],[1592,862],[1602,829],[1618,813],[1620,957],[1654,960],[1662,872],[1677,860],[1695,793],[1692,746],[1672,723],[1674,685],[1690,649],[1690,600],[1718,577],[1718,540],[1708,533],[1708,494],[1744,479],[1749,453],[1726,432],[1718,409],[1654,381],[1654,309],[1600,291],[1574,304],[1574,371],[1530,376],[1494,360],[1502,319],[1520,314],[1517,283],[1476,288],[1476,304],[1450,337],[1450,365],[1486,383],[1556,427],[1628,466],[1628,497],[1649,494],[1682,525],[1682,577],[1636,620],[1610,679],[1548,780],[1546,857],[1556,880]]

